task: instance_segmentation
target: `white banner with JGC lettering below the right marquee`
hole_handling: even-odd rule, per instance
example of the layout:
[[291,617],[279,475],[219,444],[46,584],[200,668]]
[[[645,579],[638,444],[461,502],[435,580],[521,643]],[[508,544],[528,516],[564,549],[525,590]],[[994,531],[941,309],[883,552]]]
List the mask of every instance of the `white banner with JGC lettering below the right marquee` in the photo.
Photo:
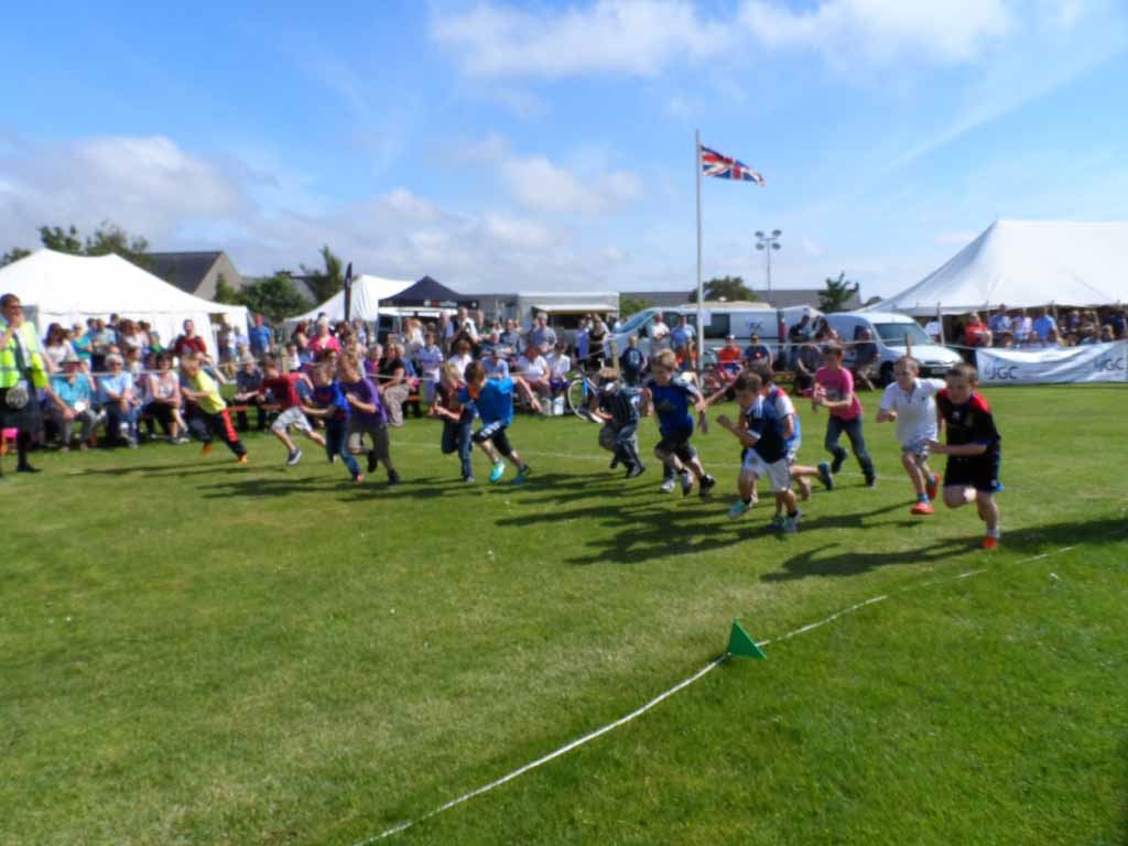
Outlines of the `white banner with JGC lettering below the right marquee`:
[[1064,350],[976,350],[986,385],[1128,382],[1128,341]]

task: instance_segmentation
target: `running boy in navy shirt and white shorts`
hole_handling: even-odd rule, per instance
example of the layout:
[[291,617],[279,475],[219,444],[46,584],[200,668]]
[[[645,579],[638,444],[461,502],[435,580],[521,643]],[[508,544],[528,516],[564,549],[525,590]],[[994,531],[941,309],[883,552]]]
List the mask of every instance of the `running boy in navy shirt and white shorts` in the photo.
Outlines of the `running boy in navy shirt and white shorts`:
[[[729,509],[729,518],[735,520],[756,502],[758,479],[772,483],[776,499],[776,515],[772,528],[776,531],[793,532],[799,528],[801,517],[799,500],[791,490],[791,468],[787,466],[787,442],[783,425],[774,406],[761,394],[764,382],[751,372],[740,373],[732,385],[740,405],[742,420],[733,423],[725,415],[717,417],[717,425],[729,430],[741,446],[740,499]],[[786,517],[784,517],[786,511]]]

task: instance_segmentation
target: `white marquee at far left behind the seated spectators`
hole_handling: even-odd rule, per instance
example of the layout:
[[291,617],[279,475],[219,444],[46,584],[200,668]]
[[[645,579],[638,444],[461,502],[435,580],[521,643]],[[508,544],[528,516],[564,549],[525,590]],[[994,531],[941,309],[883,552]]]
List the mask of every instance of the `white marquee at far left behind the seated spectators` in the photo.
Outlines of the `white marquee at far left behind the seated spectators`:
[[196,325],[208,349],[215,353],[212,317],[246,331],[247,309],[226,306],[185,293],[121,256],[72,256],[39,249],[0,267],[0,294],[19,297],[39,333],[52,323],[68,328],[90,317],[112,314],[144,320],[165,344],[182,332],[185,320]]

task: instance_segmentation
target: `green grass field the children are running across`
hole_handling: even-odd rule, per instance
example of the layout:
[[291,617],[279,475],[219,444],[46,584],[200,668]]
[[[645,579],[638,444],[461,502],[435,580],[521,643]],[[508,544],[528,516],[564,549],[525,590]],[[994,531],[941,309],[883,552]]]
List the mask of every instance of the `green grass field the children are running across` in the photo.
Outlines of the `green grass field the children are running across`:
[[1128,394],[986,393],[995,553],[972,510],[910,518],[872,423],[878,488],[852,461],[788,537],[764,503],[726,519],[716,429],[713,503],[655,461],[623,482],[571,418],[517,420],[525,487],[481,455],[462,485],[431,421],[394,432],[398,488],[257,435],[245,468],[39,456],[0,482],[0,843],[353,844],[623,716],[733,618],[776,637],[888,594],[387,843],[1122,846]]

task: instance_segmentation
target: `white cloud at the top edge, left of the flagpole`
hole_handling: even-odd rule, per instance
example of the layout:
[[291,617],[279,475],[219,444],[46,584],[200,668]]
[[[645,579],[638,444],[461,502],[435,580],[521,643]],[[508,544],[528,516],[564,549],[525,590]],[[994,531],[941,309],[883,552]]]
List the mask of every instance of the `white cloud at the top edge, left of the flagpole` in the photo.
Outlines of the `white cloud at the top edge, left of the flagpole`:
[[474,77],[626,73],[650,77],[670,63],[725,50],[731,33],[703,20],[685,0],[598,0],[562,11],[527,11],[483,2],[439,14],[435,41]]

